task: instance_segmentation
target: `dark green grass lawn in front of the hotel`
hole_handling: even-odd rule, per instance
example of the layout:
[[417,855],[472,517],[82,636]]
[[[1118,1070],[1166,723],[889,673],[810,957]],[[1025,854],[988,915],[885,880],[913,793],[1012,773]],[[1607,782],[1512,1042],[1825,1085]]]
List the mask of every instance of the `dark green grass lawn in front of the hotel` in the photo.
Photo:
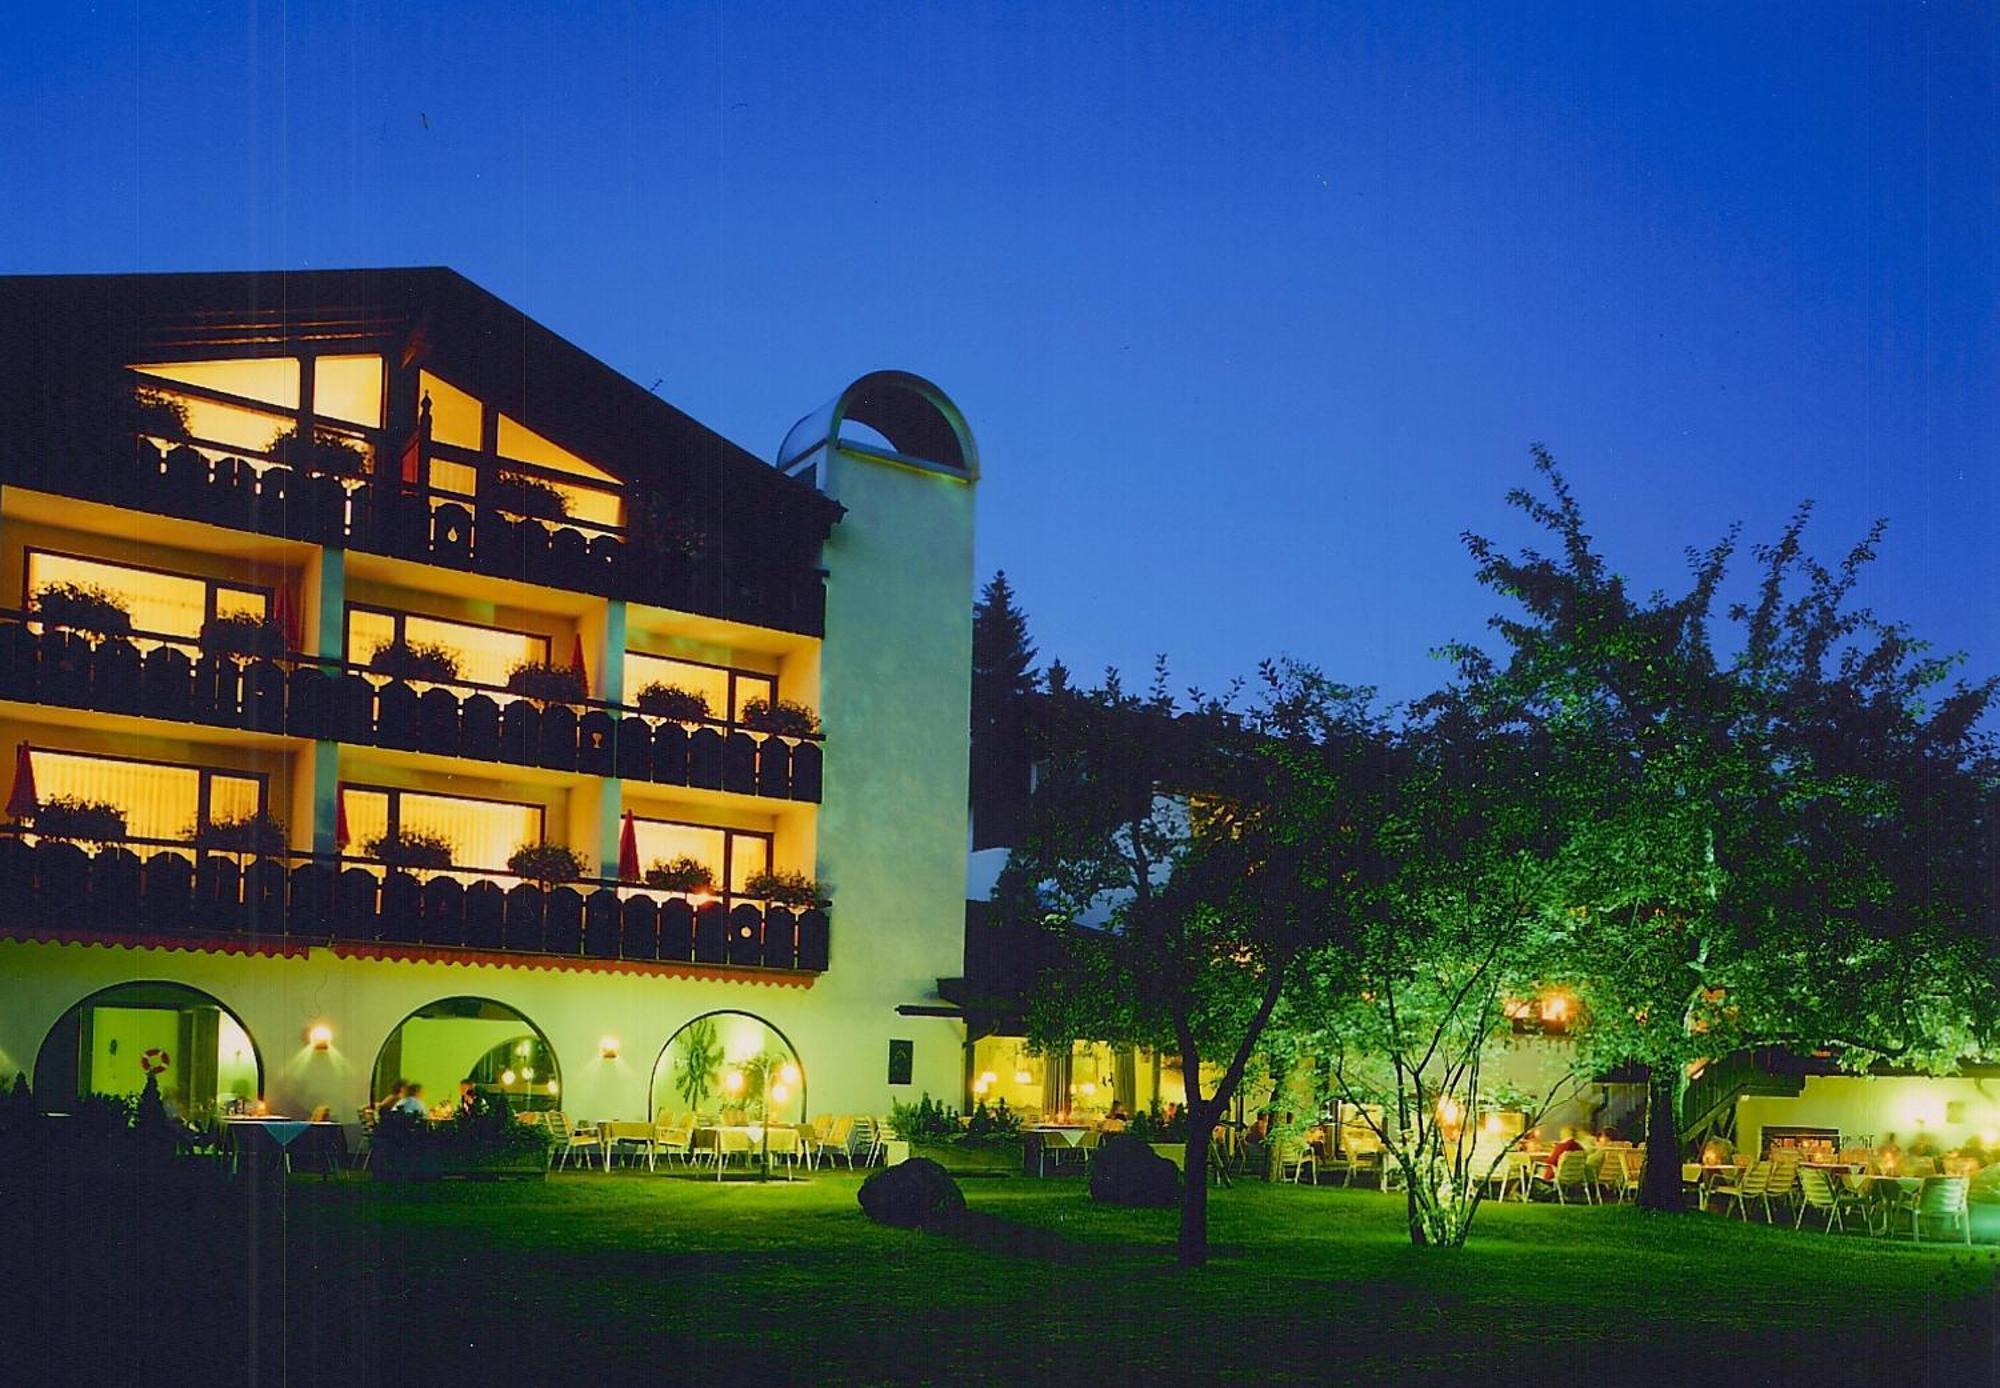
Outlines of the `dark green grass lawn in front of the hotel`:
[[[246,1198],[8,1204],[16,1382],[1992,1380],[1994,1252],[1714,1216],[1400,1204],[1242,1184],[1216,1260],[1174,1212],[968,1180],[960,1234],[868,1224],[858,1176],[294,1178]],[[88,1368],[88,1374],[82,1370]]]

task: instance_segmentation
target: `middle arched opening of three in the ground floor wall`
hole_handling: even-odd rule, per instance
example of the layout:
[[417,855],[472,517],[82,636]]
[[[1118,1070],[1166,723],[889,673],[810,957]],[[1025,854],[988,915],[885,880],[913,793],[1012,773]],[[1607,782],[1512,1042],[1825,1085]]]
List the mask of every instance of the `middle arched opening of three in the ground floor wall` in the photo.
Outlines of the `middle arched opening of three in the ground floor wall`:
[[376,1052],[370,1098],[398,1082],[422,1086],[426,1104],[456,1104],[470,1080],[504,1094],[514,1112],[560,1108],[562,1070],[542,1028],[492,998],[438,998],[396,1024]]

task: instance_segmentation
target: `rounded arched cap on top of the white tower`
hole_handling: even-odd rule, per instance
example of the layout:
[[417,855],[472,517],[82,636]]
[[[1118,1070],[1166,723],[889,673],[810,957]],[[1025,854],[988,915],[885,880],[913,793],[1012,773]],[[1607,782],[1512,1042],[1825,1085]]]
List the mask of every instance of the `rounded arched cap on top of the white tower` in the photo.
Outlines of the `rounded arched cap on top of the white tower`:
[[980,452],[952,398],[910,372],[868,372],[792,426],[778,470],[810,474],[842,450],[906,468],[976,480]]

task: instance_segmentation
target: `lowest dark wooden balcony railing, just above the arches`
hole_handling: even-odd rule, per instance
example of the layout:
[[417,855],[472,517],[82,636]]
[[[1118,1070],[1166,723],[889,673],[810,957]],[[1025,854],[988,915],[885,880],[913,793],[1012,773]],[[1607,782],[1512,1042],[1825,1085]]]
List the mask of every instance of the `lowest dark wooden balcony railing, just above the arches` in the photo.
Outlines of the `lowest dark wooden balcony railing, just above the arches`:
[[0,934],[368,942],[826,972],[822,908],[690,900],[596,878],[542,888],[502,872],[412,874],[360,858],[232,854],[170,840],[94,848],[0,826]]

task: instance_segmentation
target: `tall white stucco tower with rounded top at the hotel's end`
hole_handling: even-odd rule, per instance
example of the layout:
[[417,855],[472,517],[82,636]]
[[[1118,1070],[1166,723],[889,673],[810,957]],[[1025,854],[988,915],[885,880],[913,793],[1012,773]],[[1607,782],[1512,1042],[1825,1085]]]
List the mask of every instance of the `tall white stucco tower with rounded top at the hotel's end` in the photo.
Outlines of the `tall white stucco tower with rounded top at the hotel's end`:
[[[818,990],[898,998],[842,1046],[840,1070],[888,1096],[956,1102],[962,1024],[924,1016],[964,956],[966,728],[972,672],[972,504],[978,452],[928,380],[872,372],[786,436],[780,470],[846,508],[826,542],[820,716],[828,728],[818,870],[842,928]],[[828,996],[828,1002],[836,1002]],[[868,1052],[874,1052],[870,1062]]]

